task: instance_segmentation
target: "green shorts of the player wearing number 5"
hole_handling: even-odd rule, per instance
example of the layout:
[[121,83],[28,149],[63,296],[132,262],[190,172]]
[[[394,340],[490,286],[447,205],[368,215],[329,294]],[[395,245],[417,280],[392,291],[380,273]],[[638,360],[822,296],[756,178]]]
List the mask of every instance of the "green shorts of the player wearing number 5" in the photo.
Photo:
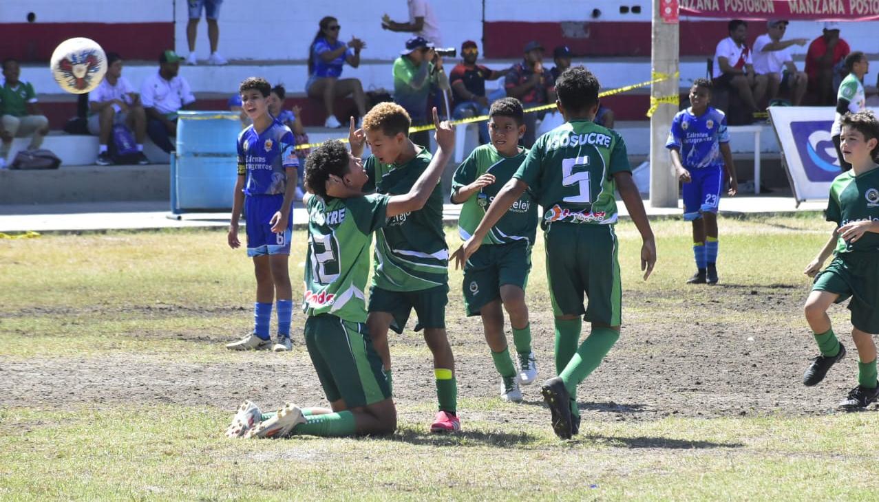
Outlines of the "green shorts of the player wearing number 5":
[[[620,326],[622,284],[613,225],[554,223],[543,239],[553,313]],[[589,305],[584,309],[583,300]]]

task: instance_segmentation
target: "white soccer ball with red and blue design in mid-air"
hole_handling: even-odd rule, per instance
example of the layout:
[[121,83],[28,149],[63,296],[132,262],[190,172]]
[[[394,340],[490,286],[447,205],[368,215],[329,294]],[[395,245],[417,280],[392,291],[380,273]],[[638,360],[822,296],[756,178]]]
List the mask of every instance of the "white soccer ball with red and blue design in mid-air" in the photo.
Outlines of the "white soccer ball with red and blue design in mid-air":
[[55,47],[49,68],[63,90],[85,94],[104,80],[107,58],[98,42],[77,37],[66,39]]

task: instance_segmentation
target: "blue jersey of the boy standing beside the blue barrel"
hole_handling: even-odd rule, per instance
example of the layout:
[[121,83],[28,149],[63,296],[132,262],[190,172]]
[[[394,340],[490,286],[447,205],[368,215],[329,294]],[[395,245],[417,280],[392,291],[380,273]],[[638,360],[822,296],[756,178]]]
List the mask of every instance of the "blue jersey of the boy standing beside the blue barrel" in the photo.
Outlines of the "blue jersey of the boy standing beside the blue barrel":
[[261,134],[248,126],[238,135],[238,174],[247,176],[244,195],[283,195],[286,168],[299,168],[290,128],[274,119]]

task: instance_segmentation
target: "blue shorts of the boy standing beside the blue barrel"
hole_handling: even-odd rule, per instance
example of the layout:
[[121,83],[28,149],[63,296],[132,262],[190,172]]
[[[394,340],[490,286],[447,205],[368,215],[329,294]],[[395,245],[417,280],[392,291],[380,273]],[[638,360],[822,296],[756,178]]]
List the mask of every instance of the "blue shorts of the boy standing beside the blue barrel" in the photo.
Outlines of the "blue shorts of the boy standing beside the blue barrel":
[[290,238],[293,234],[293,210],[287,219],[283,233],[273,233],[269,221],[284,204],[282,195],[258,195],[244,197],[244,221],[247,232],[247,255],[289,255]]

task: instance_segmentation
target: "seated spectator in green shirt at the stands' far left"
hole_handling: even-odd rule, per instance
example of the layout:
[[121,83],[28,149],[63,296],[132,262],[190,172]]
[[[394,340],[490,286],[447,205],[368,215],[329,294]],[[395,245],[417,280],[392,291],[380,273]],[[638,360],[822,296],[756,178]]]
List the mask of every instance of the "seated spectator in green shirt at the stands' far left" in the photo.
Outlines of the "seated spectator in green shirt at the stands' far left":
[[31,135],[28,150],[34,150],[43,143],[49,133],[49,119],[40,111],[37,94],[31,82],[18,80],[21,68],[18,61],[7,58],[3,61],[5,82],[0,87],[0,169],[6,166],[6,157],[14,138]]

